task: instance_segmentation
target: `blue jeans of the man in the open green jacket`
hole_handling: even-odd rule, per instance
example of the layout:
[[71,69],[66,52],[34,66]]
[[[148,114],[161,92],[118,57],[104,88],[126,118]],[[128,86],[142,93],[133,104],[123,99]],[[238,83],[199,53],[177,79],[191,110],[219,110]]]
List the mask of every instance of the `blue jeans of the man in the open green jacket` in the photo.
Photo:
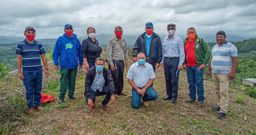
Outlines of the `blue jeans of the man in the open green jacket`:
[[[203,96],[203,69],[198,70],[199,65],[197,66],[187,66],[187,82],[189,84],[189,97],[193,100],[196,100],[196,93],[198,96],[197,101],[204,101],[205,97]],[[197,88],[196,88],[197,87]]]

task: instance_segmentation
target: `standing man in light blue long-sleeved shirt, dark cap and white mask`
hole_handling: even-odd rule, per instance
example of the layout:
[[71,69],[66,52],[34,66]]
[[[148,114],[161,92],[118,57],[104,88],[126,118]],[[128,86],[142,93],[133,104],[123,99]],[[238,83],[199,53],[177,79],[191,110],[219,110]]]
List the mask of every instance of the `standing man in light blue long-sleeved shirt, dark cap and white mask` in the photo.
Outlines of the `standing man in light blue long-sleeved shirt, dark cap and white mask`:
[[167,31],[169,35],[164,38],[162,45],[163,58],[161,61],[161,67],[165,71],[165,82],[167,96],[164,100],[172,99],[172,103],[175,104],[178,98],[178,81],[179,75],[176,76],[177,70],[182,69],[182,63],[185,59],[185,52],[183,46],[183,40],[174,35],[176,31],[175,24],[168,24]]

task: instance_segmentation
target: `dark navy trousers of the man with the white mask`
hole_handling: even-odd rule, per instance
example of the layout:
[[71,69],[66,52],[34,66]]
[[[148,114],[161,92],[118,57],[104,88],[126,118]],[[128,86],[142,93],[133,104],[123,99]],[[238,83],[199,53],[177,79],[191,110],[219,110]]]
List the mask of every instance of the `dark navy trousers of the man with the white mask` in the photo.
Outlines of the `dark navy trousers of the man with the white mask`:
[[164,58],[166,93],[175,99],[178,98],[179,76],[176,77],[176,71],[178,70],[179,60],[179,57]]

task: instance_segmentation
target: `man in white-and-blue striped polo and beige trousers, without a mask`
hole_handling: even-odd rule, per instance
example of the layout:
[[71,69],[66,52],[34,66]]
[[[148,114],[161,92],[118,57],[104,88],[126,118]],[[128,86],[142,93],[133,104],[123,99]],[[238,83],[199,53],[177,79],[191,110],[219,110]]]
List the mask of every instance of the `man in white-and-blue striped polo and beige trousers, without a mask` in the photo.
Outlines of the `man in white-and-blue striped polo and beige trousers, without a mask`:
[[213,108],[213,110],[219,112],[219,119],[226,118],[229,103],[229,81],[235,78],[238,63],[237,49],[235,45],[226,41],[226,38],[225,32],[217,32],[216,41],[218,44],[213,46],[212,58],[206,72],[206,77],[210,78],[210,71],[212,70],[213,85],[218,100],[218,107]]

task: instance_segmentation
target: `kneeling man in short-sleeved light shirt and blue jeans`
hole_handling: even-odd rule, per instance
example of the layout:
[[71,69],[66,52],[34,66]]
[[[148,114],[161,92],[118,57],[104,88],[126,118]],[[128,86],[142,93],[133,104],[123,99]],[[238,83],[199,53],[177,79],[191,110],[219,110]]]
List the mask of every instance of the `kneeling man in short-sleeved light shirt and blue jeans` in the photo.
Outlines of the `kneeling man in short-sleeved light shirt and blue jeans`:
[[148,101],[153,101],[158,98],[155,89],[151,86],[155,79],[155,72],[151,64],[145,62],[146,55],[139,52],[137,55],[138,61],[132,64],[128,70],[126,78],[133,87],[132,88],[132,107],[138,109],[142,95],[143,105],[148,107]]

